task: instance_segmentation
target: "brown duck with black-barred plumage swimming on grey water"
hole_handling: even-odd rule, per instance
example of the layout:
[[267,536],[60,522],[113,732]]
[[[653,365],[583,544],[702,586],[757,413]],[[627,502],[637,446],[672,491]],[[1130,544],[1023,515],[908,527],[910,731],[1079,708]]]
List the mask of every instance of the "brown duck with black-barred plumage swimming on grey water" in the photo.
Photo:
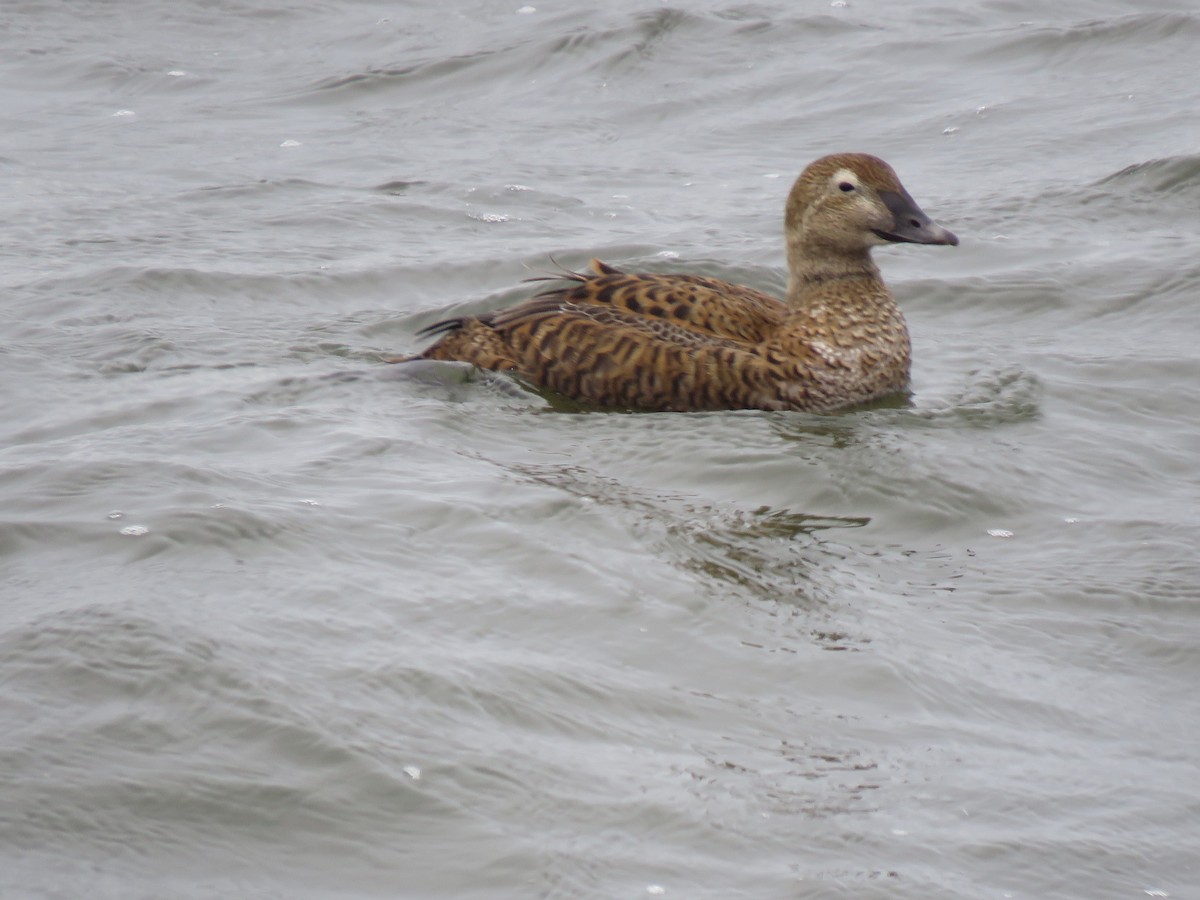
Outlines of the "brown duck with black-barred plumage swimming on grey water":
[[659,412],[834,413],[908,390],[912,346],[871,250],[955,246],[883,160],[823,156],[784,214],[787,294],[688,274],[632,274],[593,259],[509,308],[437,322],[400,360],[509,372],[577,403]]

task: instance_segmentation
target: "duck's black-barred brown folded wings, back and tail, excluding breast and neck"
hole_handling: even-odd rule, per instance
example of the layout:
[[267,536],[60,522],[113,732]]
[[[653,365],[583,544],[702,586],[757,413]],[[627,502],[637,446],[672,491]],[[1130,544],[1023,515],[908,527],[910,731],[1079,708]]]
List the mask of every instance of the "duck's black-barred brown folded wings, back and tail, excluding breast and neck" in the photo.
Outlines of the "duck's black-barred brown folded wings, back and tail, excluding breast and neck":
[[[512,371],[600,407],[780,409],[802,403],[803,360],[769,336],[784,304],[690,275],[626,275],[593,263],[564,287],[506,310],[434,323],[421,358]],[[802,384],[798,384],[797,382]]]

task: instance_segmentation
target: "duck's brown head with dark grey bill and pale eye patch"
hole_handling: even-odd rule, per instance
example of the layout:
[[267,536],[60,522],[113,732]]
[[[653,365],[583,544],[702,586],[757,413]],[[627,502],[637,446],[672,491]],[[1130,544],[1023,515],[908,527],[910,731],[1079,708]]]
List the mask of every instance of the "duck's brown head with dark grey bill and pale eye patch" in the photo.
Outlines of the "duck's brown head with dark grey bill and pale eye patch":
[[881,244],[949,244],[959,239],[926,216],[883,160],[834,154],[811,163],[787,197],[790,244],[864,253]]

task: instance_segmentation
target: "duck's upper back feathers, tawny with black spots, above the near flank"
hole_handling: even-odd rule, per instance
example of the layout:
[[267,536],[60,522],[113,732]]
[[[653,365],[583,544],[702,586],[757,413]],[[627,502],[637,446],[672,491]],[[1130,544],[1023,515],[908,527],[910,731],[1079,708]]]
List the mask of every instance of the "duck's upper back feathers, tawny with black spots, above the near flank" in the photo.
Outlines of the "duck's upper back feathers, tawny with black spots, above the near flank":
[[635,318],[668,322],[684,331],[742,343],[762,343],[782,322],[781,300],[743,284],[700,275],[631,275],[593,259],[590,272],[563,272],[532,281],[565,281],[529,302],[620,310]]

